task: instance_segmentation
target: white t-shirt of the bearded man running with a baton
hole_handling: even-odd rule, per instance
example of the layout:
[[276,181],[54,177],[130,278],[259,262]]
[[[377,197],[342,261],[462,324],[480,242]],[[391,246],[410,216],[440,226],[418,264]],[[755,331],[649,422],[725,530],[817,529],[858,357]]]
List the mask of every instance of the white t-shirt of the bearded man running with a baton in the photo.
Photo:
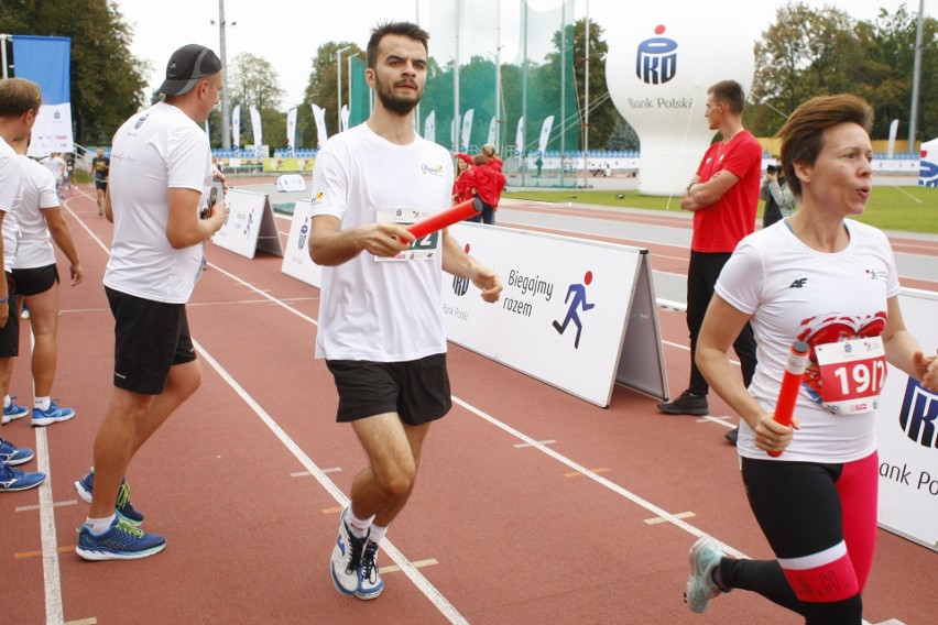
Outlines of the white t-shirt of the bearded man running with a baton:
[[[449,207],[452,160],[417,136],[395,145],[367,123],[329,139],[313,171],[313,215],[340,228],[373,223],[395,209],[439,212]],[[443,254],[379,261],[362,252],[323,268],[316,358],[403,362],[444,353]]]

